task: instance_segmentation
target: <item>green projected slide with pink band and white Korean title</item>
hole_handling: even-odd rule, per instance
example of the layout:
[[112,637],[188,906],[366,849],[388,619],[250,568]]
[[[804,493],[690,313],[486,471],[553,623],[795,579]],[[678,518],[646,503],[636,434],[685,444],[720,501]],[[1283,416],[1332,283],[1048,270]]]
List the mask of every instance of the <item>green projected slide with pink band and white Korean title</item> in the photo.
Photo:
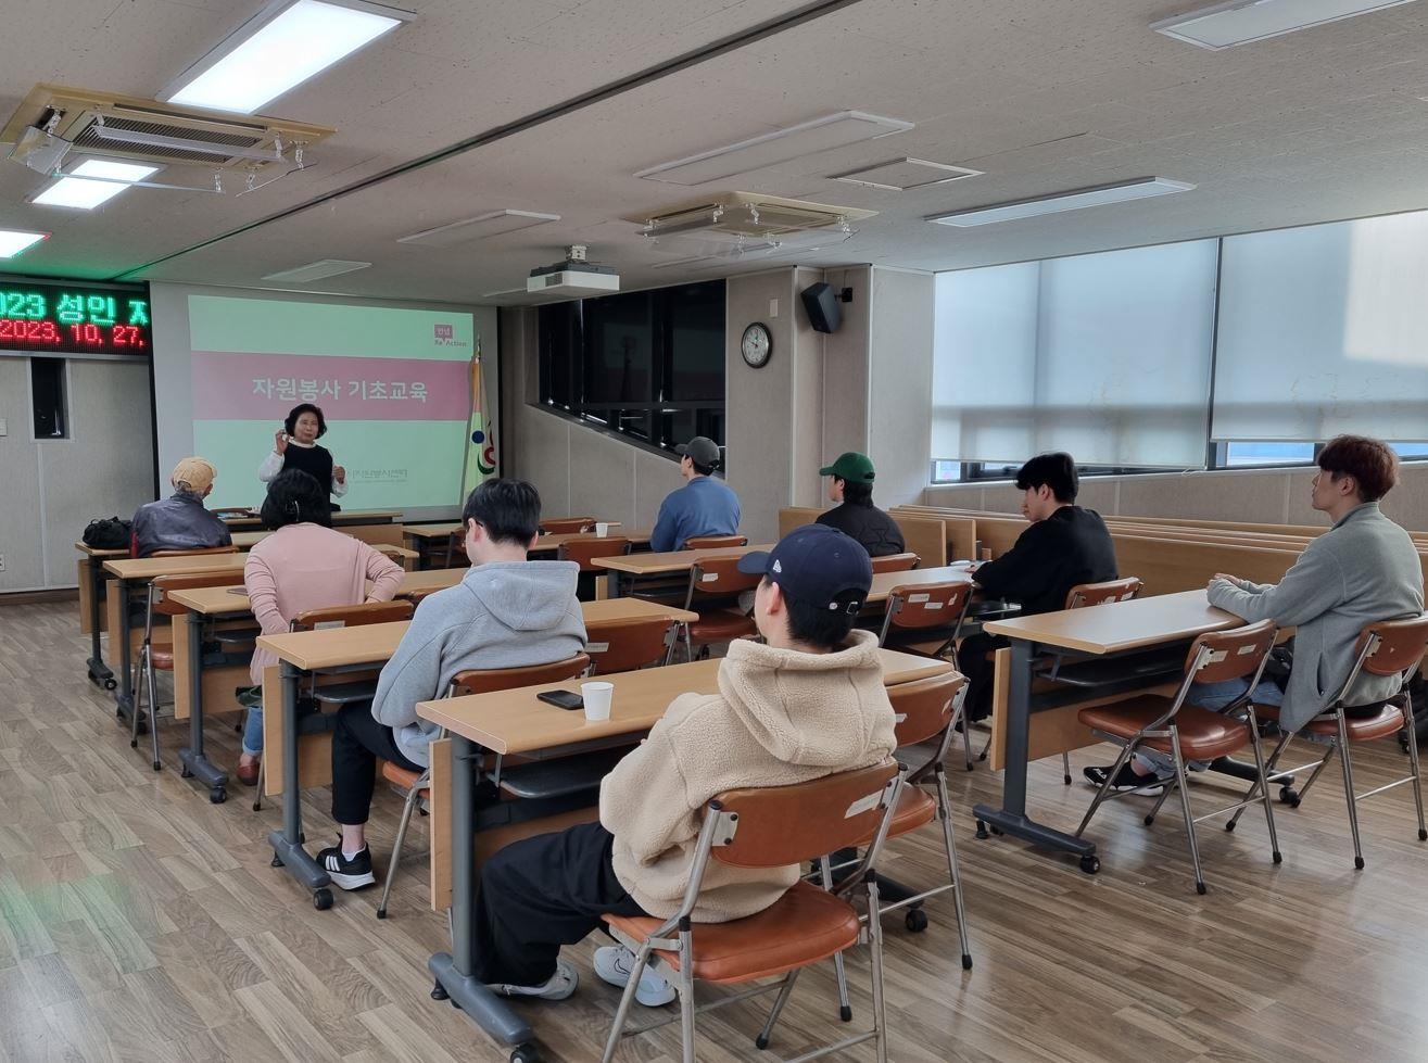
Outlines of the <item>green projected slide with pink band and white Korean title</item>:
[[460,503],[481,427],[470,313],[191,294],[188,334],[193,450],[220,470],[210,507],[261,503],[257,467],[304,401],[347,470],[344,510]]

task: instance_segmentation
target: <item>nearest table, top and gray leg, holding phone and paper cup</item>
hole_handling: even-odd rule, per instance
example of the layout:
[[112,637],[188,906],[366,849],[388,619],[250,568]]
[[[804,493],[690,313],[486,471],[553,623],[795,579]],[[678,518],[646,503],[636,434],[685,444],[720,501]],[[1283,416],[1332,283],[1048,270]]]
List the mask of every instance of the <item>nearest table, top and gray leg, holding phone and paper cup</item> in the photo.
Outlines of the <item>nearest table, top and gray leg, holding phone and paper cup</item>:
[[[883,679],[888,686],[952,670],[948,662],[932,657],[895,650],[878,650],[878,654],[883,657]],[[670,702],[678,694],[717,693],[718,667],[717,660],[698,660],[604,676],[615,690],[610,719],[601,722],[590,722],[584,713],[557,709],[536,697],[568,683],[545,683],[417,704],[417,714],[446,727],[451,740],[450,810],[433,807],[433,823],[447,819],[451,824],[451,952],[436,953],[427,963],[436,979],[433,997],[450,997],[453,1004],[506,1047],[528,1046],[534,1040],[530,1024],[510,1003],[470,973],[474,966],[476,787],[483,750],[540,759],[548,750],[570,753],[584,744],[608,744],[611,739],[641,734],[664,716]],[[440,800],[438,787],[433,787],[433,802],[436,800]],[[433,846],[436,844],[433,839]]]

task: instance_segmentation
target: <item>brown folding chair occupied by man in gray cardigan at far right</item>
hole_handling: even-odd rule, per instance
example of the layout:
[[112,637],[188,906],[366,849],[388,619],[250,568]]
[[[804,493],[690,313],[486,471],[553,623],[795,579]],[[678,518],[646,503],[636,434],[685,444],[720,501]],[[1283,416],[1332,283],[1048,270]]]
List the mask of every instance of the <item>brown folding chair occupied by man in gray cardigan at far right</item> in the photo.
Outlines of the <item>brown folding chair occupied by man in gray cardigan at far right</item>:
[[[1358,803],[1365,797],[1384,793],[1384,790],[1392,790],[1404,783],[1412,783],[1414,806],[1418,812],[1418,840],[1428,842],[1428,829],[1424,827],[1422,783],[1418,776],[1418,742],[1414,737],[1414,704],[1412,697],[1408,693],[1408,684],[1422,666],[1424,653],[1428,652],[1428,613],[1408,620],[1384,620],[1377,624],[1368,624],[1358,636],[1357,652],[1358,656],[1354,660],[1354,667],[1349,669],[1348,679],[1344,680],[1338,694],[1334,696],[1334,702],[1325,712],[1315,716],[1309,720],[1308,726],[1304,727],[1304,732],[1332,739],[1332,742],[1329,743],[1328,750],[1325,750],[1324,757],[1314,764],[1314,773],[1309,776],[1309,782],[1307,782],[1304,789],[1299,790],[1298,797],[1289,803],[1294,807],[1299,806],[1299,802],[1302,802],[1309,793],[1309,787],[1314,786],[1314,780],[1319,777],[1319,772],[1324,770],[1324,766],[1337,752],[1339,754],[1339,763],[1344,767],[1344,797],[1348,802],[1349,833],[1354,836],[1354,867],[1362,870],[1364,849],[1358,836]],[[1354,683],[1364,672],[1371,676],[1401,676],[1402,689],[1394,694],[1394,697],[1377,706],[1349,706],[1347,702],[1354,690]],[[1259,713],[1268,720],[1278,722],[1279,719],[1279,709],[1277,706],[1259,706]],[[1402,732],[1404,729],[1407,729],[1408,733],[1407,752],[1411,769],[1409,774],[1395,779],[1391,783],[1385,783],[1384,786],[1377,786],[1368,793],[1355,793],[1354,763],[1348,754],[1349,743],[1385,739],[1389,734]],[[1294,772],[1299,770],[1275,770],[1275,766],[1279,763],[1279,757],[1284,754],[1284,750],[1292,739],[1294,734],[1284,734],[1278,744],[1275,744],[1274,752],[1269,754],[1268,779],[1271,782],[1279,779],[1281,776],[1292,777]],[[1308,767],[1308,764],[1305,764],[1305,767]],[[1250,789],[1247,800],[1254,797],[1258,786],[1259,783],[1255,783]],[[1235,820],[1238,819],[1240,813],[1235,813],[1235,819],[1230,820],[1225,827],[1228,830],[1234,830]]]

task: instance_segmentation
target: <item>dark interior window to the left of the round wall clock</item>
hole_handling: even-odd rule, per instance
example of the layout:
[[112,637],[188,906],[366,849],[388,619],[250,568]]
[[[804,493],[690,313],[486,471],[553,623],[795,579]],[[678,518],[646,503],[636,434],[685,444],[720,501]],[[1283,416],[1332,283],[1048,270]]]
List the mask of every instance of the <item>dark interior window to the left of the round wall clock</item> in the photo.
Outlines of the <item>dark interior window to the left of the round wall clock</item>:
[[724,444],[724,281],[543,306],[540,401],[653,447]]

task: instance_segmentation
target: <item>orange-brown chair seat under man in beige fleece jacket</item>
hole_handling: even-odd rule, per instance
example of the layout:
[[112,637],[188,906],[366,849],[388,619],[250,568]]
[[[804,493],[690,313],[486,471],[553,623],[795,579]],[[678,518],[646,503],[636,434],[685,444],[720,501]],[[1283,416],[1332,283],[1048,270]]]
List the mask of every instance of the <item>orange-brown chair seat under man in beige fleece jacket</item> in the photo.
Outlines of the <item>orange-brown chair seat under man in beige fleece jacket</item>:
[[[605,916],[605,923],[643,942],[665,920]],[[773,907],[733,923],[694,924],[694,977],[701,982],[751,982],[817,963],[858,940],[858,914],[848,902],[798,882]],[[680,957],[654,953],[674,970]]]

